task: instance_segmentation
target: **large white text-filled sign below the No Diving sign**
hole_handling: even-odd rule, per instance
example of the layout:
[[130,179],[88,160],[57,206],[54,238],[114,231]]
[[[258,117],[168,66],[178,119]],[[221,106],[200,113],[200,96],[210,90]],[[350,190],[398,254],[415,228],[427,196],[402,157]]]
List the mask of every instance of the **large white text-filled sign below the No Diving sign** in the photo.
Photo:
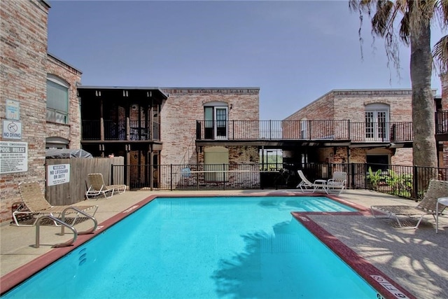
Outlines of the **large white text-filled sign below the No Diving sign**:
[[0,174],[28,171],[28,143],[0,141]]

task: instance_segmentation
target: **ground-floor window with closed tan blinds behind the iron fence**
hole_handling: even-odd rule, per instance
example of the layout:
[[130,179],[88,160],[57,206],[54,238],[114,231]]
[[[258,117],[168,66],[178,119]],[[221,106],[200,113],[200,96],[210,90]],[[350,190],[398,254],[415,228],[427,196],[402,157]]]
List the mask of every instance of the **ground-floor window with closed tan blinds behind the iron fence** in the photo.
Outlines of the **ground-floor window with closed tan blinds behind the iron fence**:
[[229,150],[222,146],[204,148],[205,181],[229,181]]

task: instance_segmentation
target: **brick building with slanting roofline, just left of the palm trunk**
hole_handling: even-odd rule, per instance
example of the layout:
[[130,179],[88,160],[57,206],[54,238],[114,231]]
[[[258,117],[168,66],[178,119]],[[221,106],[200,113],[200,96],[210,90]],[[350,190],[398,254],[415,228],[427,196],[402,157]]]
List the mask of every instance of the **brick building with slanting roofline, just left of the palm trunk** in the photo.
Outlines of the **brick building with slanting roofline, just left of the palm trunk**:
[[[434,111],[437,105],[435,96]],[[314,148],[287,153],[295,160],[412,165],[410,89],[332,90],[285,119],[292,120],[300,121],[304,132],[314,125],[327,135]],[[319,123],[324,120],[325,126]]]

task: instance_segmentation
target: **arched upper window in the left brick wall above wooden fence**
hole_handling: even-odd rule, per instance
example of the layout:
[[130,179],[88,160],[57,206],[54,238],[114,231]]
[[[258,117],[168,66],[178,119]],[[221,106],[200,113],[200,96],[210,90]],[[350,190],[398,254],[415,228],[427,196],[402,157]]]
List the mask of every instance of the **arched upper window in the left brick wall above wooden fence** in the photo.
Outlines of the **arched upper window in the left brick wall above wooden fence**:
[[51,75],[47,77],[47,121],[69,123],[69,85]]

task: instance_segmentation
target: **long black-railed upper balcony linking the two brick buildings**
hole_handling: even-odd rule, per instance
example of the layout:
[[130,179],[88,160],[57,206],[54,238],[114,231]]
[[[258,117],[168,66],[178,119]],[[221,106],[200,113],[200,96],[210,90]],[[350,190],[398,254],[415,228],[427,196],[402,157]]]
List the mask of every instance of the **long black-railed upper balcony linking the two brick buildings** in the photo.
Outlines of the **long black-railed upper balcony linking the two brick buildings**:
[[355,123],[350,120],[228,120],[196,121],[197,140],[303,140],[409,142],[412,122]]

